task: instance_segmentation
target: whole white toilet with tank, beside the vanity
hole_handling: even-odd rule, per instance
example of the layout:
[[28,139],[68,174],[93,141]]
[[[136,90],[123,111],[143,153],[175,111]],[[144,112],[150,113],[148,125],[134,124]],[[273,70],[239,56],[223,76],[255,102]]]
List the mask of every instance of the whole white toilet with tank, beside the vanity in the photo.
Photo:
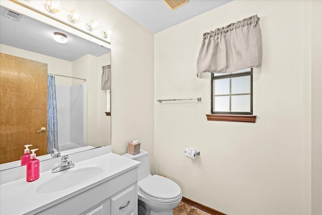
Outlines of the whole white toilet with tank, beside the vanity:
[[137,155],[123,156],[141,162],[138,167],[138,214],[173,215],[172,209],[182,199],[179,185],[168,178],[150,174],[148,152],[141,150]]

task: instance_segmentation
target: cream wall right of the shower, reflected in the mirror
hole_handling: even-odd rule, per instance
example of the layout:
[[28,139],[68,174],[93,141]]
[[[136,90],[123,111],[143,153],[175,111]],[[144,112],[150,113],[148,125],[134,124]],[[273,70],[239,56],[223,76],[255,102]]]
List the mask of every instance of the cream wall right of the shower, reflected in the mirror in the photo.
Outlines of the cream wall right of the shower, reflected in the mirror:
[[102,65],[111,63],[111,52],[96,57],[87,54],[72,62],[72,85],[86,84],[86,145],[93,147],[111,144],[111,120],[106,116],[106,91],[101,90]]

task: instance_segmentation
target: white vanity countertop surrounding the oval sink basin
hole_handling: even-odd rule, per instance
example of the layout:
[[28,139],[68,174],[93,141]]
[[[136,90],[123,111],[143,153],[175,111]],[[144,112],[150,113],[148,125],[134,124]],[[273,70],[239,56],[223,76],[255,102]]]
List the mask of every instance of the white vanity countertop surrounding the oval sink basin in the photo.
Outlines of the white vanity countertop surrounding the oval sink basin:
[[[27,182],[26,178],[6,183],[0,186],[0,214],[34,214],[50,206],[60,203],[76,194],[84,192],[98,184],[110,180],[135,167],[139,162],[109,153],[89,160],[75,163],[75,167],[58,173],[41,172],[39,179]],[[92,177],[75,186],[61,191],[38,193],[36,189],[44,182],[80,167],[96,166],[103,169],[103,173]]]

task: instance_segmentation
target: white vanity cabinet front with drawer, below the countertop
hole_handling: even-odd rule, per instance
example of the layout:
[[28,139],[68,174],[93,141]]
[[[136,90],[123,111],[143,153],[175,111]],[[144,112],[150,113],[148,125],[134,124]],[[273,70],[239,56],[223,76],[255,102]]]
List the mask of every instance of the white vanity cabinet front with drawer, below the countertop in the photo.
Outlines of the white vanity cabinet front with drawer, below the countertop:
[[37,214],[136,215],[137,167]]

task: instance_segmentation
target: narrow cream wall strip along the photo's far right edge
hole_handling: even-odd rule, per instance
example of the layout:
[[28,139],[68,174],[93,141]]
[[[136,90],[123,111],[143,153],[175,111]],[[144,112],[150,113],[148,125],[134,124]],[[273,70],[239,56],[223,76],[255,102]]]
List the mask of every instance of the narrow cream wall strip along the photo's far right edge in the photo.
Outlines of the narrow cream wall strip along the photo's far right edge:
[[322,1],[311,3],[312,214],[322,214]]

